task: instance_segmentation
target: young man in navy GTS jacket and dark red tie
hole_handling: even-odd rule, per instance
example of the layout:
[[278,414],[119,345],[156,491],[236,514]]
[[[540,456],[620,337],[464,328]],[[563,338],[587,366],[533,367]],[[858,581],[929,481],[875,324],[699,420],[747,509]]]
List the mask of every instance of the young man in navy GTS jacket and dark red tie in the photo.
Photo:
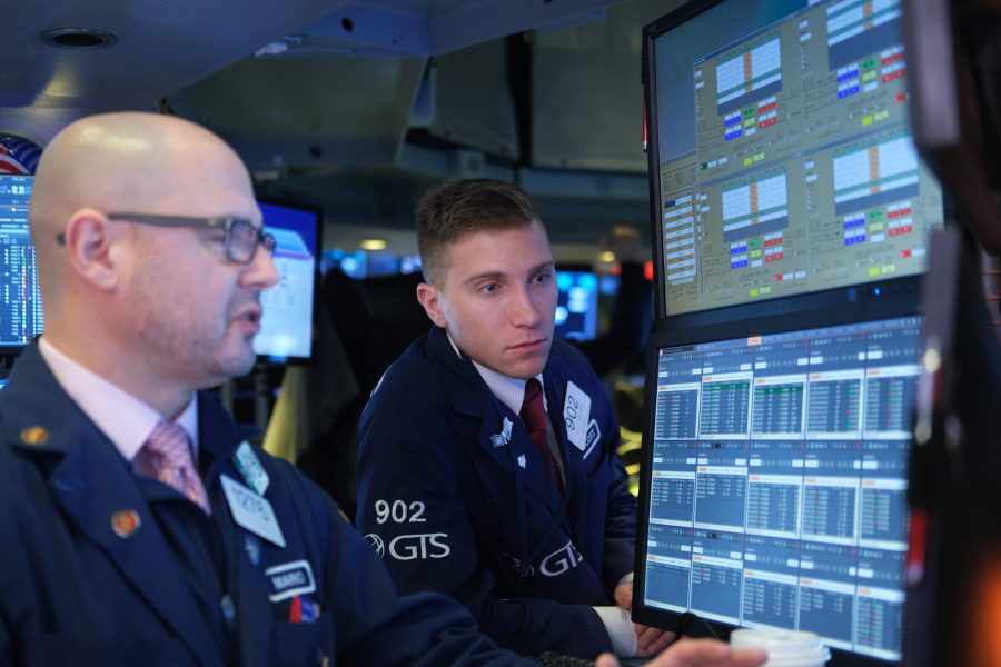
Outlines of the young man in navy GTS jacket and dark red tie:
[[[618,422],[587,360],[553,337],[538,212],[511,183],[455,181],[422,200],[417,242],[434,326],[361,418],[359,529],[403,590],[452,595],[502,646],[656,653],[672,637],[628,619],[636,502]],[[535,439],[526,381],[547,416]]]

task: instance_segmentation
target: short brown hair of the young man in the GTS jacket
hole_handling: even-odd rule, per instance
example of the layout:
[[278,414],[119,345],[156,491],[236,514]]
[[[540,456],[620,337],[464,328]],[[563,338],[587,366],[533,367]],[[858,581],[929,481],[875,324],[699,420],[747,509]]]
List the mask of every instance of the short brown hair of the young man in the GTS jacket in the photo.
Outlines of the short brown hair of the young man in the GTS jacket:
[[519,187],[492,178],[454,180],[417,203],[417,250],[424,279],[444,279],[446,250],[465,233],[542,226],[538,211]]

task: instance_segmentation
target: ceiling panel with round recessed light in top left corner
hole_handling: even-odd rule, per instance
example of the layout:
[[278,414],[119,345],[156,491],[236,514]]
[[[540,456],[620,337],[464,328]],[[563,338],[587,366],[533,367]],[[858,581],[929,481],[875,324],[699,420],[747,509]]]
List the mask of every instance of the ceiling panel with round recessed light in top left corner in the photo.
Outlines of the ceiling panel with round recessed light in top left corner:
[[[8,2],[0,107],[149,107],[339,9],[344,0],[31,0]],[[42,43],[58,28],[117,36],[109,48]]]

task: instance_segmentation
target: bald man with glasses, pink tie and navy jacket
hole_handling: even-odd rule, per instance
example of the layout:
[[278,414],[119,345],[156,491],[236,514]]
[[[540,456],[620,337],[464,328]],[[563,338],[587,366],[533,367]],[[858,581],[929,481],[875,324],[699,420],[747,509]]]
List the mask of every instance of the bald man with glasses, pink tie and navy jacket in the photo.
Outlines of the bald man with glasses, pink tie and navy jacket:
[[278,280],[231,149],[174,118],[80,120],[29,217],[46,330],[0,394],[0,665],[518,664],[450,600],[399,597],[200,391],[251,369]]

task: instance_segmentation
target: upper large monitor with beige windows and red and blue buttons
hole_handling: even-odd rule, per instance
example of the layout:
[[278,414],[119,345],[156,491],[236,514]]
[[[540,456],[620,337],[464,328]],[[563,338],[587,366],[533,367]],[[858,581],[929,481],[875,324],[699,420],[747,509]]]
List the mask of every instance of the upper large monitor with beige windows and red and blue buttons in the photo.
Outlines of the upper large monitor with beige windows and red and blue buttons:
[[902,0],[696,0],[644,28],[656,315],[924,270],[942,195]]

